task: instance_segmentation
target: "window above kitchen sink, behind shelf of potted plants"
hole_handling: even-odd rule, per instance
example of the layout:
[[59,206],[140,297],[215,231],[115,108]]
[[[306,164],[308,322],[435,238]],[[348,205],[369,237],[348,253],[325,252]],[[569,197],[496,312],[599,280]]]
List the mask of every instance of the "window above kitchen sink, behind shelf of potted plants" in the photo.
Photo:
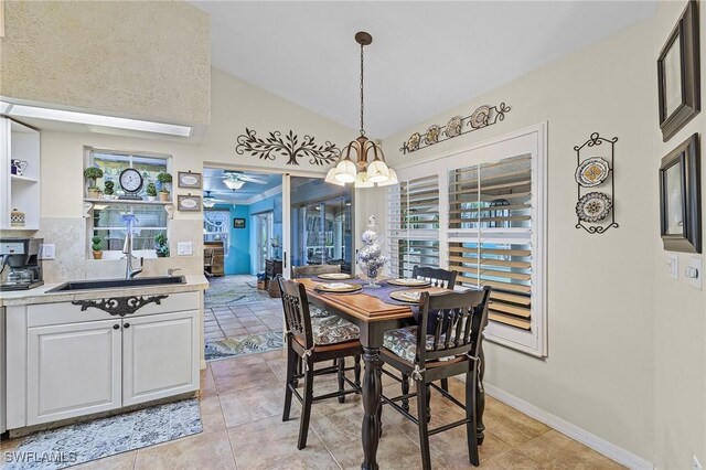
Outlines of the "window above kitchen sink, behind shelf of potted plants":
[[[88,227],[90,237],[99,236],[101,239],[104,259],[117,259],[122,257],[122,248],[126,239],[126,222],[122,216],[133,214],[136,222],[132,233],[132,249],[136,256],[156,257],[154,236],[158,233],[168,233],[168,213],[163,204],[149,205],[146,203],[131,204],[129,201],[118,200],[121,194],[119,177],[126,168],[135,168],[145,179],[139,195],[147,196],[146,188],[149,182],[154,183],[159,190],[161,183],[157,175],[167,172],[168,157],[153,157],[143,154],[129,154],[106,150],[89,150],[88,165],[103,170],[103,178],[97,181],[98,188],[105,188],[107,181],[114,182],[115,195],[105,197],[105,203],[95,203]],[[147,197],[143,197],[147,199]],[[89,238],[90,238],[89,237]]]

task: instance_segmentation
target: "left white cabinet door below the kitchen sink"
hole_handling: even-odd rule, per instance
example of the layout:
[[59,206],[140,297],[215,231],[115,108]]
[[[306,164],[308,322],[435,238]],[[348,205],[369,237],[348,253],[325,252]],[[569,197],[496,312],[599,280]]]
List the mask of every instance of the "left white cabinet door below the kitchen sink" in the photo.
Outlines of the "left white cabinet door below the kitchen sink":
[[120,320],[26,331],[28,425],[120,407]]

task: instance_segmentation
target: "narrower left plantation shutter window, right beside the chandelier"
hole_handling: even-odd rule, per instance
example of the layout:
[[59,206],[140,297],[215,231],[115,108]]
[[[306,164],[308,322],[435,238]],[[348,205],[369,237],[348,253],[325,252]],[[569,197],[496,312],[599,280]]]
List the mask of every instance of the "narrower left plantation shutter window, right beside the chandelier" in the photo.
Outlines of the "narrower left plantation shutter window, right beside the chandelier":
[[439,266],[439,177],[400,181],[388,193],[389,270],[411,277],[415,265]]

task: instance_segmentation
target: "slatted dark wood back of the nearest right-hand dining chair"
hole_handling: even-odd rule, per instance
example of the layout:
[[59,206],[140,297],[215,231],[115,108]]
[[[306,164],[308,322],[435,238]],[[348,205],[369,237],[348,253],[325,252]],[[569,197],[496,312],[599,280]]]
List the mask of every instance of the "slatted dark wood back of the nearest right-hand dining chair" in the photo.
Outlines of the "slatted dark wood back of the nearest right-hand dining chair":
[[[416,361],[422,364],[450,355],[480,353],[482,330],[488,324],[488,299],[491,288],[449,291],[430,296],[422,292],[419,299],[420,321],[417,329]],[[427,327],[436,318],[431,350],[427,350]]]

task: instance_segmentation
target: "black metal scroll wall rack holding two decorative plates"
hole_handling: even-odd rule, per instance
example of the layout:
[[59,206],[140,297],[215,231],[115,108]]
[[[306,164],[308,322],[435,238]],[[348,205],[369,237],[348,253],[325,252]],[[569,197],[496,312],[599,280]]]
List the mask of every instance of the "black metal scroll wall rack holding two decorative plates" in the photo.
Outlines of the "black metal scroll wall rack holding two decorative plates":
[[[576,228],[584,228],[589,234],[602,234],[610,227],[618,228],[613,167],[617,141],[617,137],[603,139],[598,132],[593,132],[582,146],[574,147],[576,151],[574,179],[578,185]],[[603,142],[609,146],[601,147]]]

